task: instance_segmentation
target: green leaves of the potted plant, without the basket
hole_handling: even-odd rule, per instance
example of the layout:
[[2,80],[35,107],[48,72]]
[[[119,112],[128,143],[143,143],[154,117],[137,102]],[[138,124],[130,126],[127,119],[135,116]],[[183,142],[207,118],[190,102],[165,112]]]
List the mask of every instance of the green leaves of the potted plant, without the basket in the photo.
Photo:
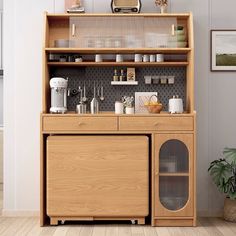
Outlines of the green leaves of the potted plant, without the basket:
[[218,190],[236,199],[236,149],[225,148],[224,158],[211,162],[208,171]]

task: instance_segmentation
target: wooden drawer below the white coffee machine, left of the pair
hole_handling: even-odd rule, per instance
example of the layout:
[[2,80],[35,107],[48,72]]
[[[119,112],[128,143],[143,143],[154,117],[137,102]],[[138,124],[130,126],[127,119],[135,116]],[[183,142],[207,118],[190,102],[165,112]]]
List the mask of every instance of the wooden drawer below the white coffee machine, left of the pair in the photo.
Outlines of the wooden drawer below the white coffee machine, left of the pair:
[[116,131],[117,117],[43,117],[43,131]]

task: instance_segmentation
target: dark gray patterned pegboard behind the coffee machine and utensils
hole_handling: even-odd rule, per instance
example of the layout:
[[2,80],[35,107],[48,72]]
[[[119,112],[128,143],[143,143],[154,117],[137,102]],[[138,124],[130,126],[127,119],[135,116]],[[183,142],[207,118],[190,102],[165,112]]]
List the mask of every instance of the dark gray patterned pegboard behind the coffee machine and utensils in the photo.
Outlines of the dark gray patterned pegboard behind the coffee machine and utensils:
[[[78,89],[84,83],[87,88],[89,102],[93,97],[94,81],[96,85],[104,87],[105,100],[99,102],[101,111],[114,111],[115,101],[121,100],[122,96],[134,96],[135,92],[158,92],[159,100],[164,105],[164,110],[168,110],[169,99],[173,95],[183,98],[184,108],[186,107],[186,67],[139,67],[136,68],[136,80],[138,86],[114,86],[111,85],[114,69],[126,69],[120,67],[58,67],[51,68],[51,77],[69,78],[69,88]],[[145,84],[145,75],[173,75],[175,83],[173,85]],[[79,96],[68,97],[68,109],[75,110],[79,102]]]

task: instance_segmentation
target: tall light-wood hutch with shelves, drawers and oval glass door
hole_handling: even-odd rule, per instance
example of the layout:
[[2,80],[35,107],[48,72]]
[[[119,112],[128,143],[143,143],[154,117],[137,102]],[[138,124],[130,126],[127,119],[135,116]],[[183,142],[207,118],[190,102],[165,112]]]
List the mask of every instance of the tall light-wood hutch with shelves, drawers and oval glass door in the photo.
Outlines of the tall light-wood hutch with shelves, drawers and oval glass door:
[[[145,32],[176,33],[184,27],[186,47],[148,47]],[[130,28],[129,28],[130,27]],[[133,31],[132,31],[133,27]],[[150,29],[149,29],[150,27]],[[112,34],[141,38],[141,47],[89,45],[91,37]],[[160,35],[161,35],[160,34]],[[177,36],[178,37],[178,34]],[[55,40],[68,39],[65,48]],[[118,47],[117,47],[118,46]],[[55,62],[49,54],[182,55],[164,62]],[[183,114],[50,114],[53,68],[184,67]],[[111,75],[112,79],[112,75]],[[41,114],[40,224],[67,220],[132,220],[152,226],[196,225],[196,113],[194,41],[191,13],[45,14]],[[174,164],[173,164],[174,163]],[[174,170],[171,165],[174,165]]]

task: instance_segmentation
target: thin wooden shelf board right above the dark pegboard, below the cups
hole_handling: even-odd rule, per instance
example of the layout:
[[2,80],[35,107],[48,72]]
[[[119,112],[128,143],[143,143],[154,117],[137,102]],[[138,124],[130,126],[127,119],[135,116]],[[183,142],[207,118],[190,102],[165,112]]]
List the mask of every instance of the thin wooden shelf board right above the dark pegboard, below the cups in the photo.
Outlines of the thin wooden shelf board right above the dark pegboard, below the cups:
[[188,62],[48,62],[49,66],[133,66],[133,67],[154,67],[154,66],[187,66]]

